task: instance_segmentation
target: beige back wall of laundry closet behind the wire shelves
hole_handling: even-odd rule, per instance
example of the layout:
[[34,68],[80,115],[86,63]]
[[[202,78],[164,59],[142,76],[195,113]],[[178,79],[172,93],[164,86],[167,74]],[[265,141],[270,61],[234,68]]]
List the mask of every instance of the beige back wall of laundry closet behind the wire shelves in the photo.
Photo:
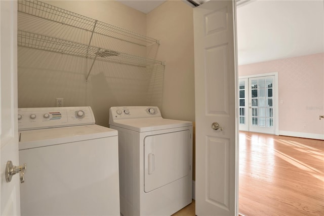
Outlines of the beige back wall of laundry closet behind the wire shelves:
[[[46,1],[47,4],[102,22],[146,34],[146,15],[114,1]],[[89,44],[91,33],[60,23],[49,25],[18,13],[18,29]],[[147,47],[106,37],[93,37],[92,46],[145,56]],[[158,48],[154,46],[155,52]],[[152,50],[151,55],[154,55]],[[163,60],[163,59],[161,59]],[[18,47],[18,106],[49,107],[56,98],[64,106],[92,106],[96,123],[108,126],[110,106],[161,105],[164,67],[143,68]]]

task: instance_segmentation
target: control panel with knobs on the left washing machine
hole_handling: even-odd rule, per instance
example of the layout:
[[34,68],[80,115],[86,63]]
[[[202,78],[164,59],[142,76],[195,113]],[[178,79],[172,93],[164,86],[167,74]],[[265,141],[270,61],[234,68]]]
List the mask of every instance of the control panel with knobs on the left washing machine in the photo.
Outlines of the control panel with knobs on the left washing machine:
[[90,106],[18,109],[18,130],[95,124]]

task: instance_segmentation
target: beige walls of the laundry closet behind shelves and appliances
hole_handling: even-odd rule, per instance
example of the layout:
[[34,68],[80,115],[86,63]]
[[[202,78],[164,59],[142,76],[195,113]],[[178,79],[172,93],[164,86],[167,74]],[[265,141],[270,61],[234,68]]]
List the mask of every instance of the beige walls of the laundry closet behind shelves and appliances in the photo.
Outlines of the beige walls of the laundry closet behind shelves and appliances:
[[[19,107],[55,106],[56,98],[62,97],[64,106],[92,106],[96,123],[103,126],[108,126],[110,106],[128,105],[158,105],[165,118],[194,121],[192,8],[181,1],[168,1],[146,15],[115,1],[46,3],[160,39],[160,46],[145,48],[96,35],[91,45],[147,55],[166,61],[167,66],[154,74],[96,61],[86,83],[92,60],[19,47]],[[18,28],[84,44],[91,37],[90,32],[21,13]]]

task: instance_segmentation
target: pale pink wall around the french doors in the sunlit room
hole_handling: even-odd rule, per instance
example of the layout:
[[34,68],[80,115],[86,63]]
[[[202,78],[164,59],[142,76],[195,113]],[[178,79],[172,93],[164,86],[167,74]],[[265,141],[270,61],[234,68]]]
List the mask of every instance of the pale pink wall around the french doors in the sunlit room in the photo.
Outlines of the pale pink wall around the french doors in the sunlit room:
[[238,76],[271,72],[278,73],[279,134],[324,137],[324,53],[238,66]]

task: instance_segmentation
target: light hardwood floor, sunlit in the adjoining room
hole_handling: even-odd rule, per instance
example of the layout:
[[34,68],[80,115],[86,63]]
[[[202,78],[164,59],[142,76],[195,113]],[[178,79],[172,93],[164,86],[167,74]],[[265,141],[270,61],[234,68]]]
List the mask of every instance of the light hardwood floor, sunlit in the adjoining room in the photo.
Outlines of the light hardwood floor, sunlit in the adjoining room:
[[[194,205],[174,215],[195,215]],[[324,141],[240,131],[239,212],[324,215]]]

